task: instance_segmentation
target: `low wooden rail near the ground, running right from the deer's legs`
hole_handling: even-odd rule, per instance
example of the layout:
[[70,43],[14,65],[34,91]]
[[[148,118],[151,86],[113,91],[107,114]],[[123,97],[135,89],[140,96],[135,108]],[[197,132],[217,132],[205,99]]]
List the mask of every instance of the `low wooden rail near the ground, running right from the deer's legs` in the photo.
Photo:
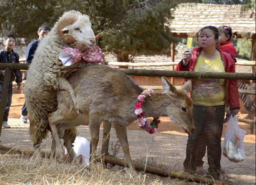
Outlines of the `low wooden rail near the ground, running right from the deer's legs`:
[[[104,162],[112,163],[112,164],[116,164],[116,165],[120,165],[120,166],[128,166],[126,160],[117,159],[117,158],[110,157],[110,156],[105,156]],[[136,169],[139,169],[142,171],[145,170],[148,173],[155,173],[155,174],[161,175],[161,176],[178,178],[178,179],[193,181],[193,182],[197,182],[197,183],[210,183],[212,185],[215,185],[215,184],[216,185],[228,185],[228,184],[230,184],[230,183],[224,183],[222,181],[215,181],[213,179],[206,178],[206,177],[190,175],[190,174],[186,174],[186,173],[182,173],[182,172],[178,172],[178,171],[170,171],[167,169],[162,169],[159,167],[154,167],[154,166],[149,166],[149,165],[146,165],[146,167],[145,167],[144,164],[140,164],[140,163],[136,163],[136,162],[132,162],[132,163],[134,164],[134,167]]]

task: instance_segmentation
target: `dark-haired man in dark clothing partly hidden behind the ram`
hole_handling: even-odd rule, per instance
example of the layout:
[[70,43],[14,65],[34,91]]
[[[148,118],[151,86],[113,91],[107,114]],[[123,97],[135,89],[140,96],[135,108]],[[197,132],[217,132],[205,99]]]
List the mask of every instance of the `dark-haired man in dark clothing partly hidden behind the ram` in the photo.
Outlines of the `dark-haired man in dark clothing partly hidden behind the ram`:
[[[27,50],[26,50],[26,63],[27,64],[31,64],[32,62],[32,59],[34,57],[34,54],[35,54],[35,51],[36,51],[36,48],[38,46],[38,43],[41,41],[41,39],[47,35],[47,33],[50,31],[50,28],[48,26],[40,26],[38,28],[38,31],[37,31],[37,34],[39,35],[39,38],[30,42],[28,44],[28,47],[27,47]],[[27,73],[24,75],[24,80],[26,80],[26,76],[27,76]],[[23,123],[27,123],[28,122],[28,111],[27,111],[27,108],[26,108],[26,102],[24,103],[24,105],[22,106],[21,108],[21,111],[20,111],[20,120],[23,122]]]

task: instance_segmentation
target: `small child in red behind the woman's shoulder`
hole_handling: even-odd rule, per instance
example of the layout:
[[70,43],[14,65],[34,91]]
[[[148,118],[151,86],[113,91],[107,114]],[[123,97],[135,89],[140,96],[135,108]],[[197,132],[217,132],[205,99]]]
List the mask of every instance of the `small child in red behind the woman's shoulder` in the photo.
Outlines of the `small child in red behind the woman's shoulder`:
[[220,26],[218,28],[219,39],[218,39],[218,49],[226,53],[230,53],[233,59],[236,58],[236,48],[231,42],[232,38],[232,29],[229,26]]

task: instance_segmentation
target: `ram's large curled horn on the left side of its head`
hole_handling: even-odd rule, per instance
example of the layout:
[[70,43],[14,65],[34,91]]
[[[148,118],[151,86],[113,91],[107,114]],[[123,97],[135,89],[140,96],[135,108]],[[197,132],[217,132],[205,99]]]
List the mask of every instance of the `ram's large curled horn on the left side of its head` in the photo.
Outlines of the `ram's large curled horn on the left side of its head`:
[[69,15],[66,17],[63,17],[59,20],[58,26],[57,26],[57,32],[60,36],[60,38],[67,44],[73,43],[75,41],[74,37],[72,35],[65,33],[62,30],[66,26],[73,24],[78,20],[77,16]]

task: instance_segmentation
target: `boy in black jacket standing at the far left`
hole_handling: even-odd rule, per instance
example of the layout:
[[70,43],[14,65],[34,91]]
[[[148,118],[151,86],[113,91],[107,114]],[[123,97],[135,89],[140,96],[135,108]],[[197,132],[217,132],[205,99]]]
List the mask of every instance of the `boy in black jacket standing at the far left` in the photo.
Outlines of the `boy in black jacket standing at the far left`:
[[[6,37],[4,37],[5,47],[0,52],[1,63],[19,63],[19,55],[18,53],[13,51],[13,48],[15,47],[15,42],[16,42],[16,39],[12,34],[8,34],[6,35]],[[0,94],[2,94],[4,75],[5,75],[5,70],[0,70]],[[8,125],[7,121],[8,121],[10,106],[12,103],[12,82],[14,80],[17,83],[17,86],[18,86],[17,89],[20,89],[21,83],[22,83],[22,75],[19,69],[11,71],[6,108],[4,112],[4,120],[2,124],[3,128],[11,128],[10,125]]]

